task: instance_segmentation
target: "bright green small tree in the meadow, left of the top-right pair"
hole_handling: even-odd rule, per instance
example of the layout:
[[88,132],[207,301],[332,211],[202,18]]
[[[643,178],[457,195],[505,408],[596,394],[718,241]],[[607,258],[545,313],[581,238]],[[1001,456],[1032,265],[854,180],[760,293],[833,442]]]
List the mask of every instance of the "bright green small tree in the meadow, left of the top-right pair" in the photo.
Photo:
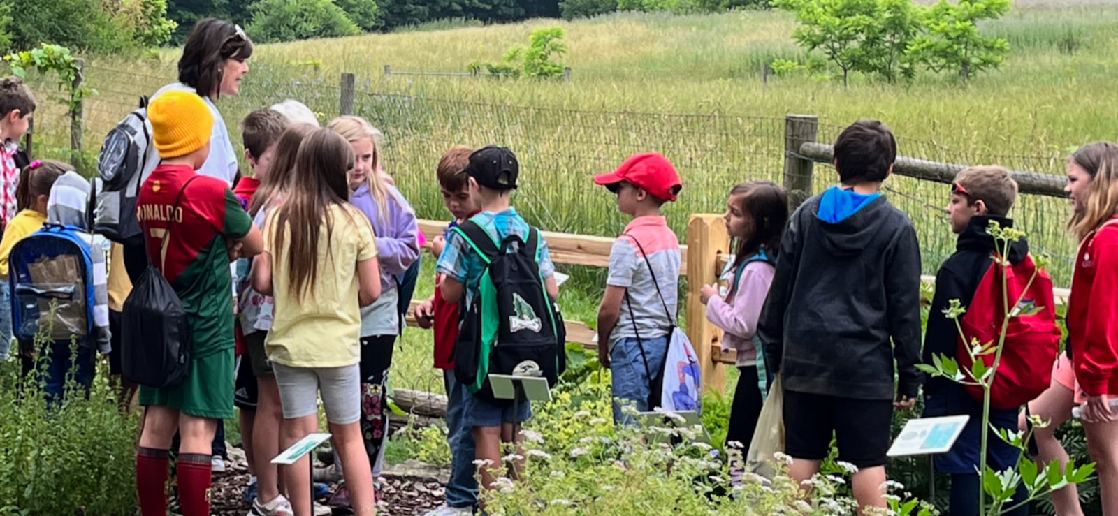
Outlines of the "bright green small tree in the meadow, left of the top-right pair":
[[906,49],[920,30],[919,11],[911,0],[777,0],[796,15],[792,37],[808,51],[818,50],[842,70],[897,80],[911,77]]

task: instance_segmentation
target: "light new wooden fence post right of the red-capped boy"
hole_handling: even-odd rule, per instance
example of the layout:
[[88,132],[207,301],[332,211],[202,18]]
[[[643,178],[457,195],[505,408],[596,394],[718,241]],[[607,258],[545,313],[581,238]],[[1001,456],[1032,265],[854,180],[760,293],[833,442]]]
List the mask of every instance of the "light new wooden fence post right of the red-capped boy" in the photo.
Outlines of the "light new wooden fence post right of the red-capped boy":
[[716,259],[719,252],[729,252],[730,236],[721,214],[697,213],[688,221],[688,337],[695,346],[702,370],[703,392],[711,389],[722,392],[726,386],[722,364],[716,363],[712,345],[719,345],[721,332],[707,321],[707,307],[700,302],[703,285],[718,281]]

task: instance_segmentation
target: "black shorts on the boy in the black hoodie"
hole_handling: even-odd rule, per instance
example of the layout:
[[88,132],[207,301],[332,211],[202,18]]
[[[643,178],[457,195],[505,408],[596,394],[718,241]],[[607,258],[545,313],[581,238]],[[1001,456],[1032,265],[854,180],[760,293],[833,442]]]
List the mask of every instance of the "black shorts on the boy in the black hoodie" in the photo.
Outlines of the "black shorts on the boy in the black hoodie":
[[893,402],[784,391],[785,453],[823,460],[831,438],[839,460],[859,468],[884,466],[892,433]]

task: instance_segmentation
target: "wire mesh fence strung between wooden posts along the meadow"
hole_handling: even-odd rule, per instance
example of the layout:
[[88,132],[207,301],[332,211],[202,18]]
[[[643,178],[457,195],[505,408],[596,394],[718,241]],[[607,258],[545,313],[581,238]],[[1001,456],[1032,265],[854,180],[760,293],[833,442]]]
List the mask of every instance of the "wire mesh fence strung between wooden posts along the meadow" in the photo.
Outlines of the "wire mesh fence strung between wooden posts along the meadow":
[[[86,83],[98,95],[85,104],[86,152],[96,152],[101,138],[141,95],[150,95],[169,80],[157,73],[97,66],[86,68]],[[61,93],[40,84],[49,107],[36,113],[38,141],[49,152],[67,145],[69,122],[53,99]],[[294,98],[326,122],[338,114],[342,88],[321,77],[297,80],[255,80],[249,76],[240,94],[221,98],[218,106],[236,137],[239,121],[252,109]],[[518,209],[547,230],[616,235],[626,220],[617,212],[613,195],[596,187],[590,176],[612,170],[634,152],[664,153],[684,180],[680,201],[666,207],[670,226],[685,231],[689,214],[720,212],[729,189],[746,180],[783,181],[785,120],[783,117],[727,114],[666,114],[647,112],[580,111],[541,106],[432,98],[378,92],[361,85],[354,93],[354,114],[385,132],[382,157],[400,190],[424,218],[444,218],[435,181],[435,164],[456,144],[508,145],[521,162]],[[842,125],[821,123],[817,140],[832,142]],[[925,160],[958,164],[999,164],[1014,170],[1053,174],[1053,189],[1062,184],[1064,156],[1060,152],[1038,155],[974,153],[944,147],[934,141],[898,136],[899,153]],[[58,152],[58,155],[65,155]],[[827,165],[815,168],[813,189],[819,192],[837,181]],[[923,269],[932,274],[955,248],[944,207],[949,189],[921,178],[894,175],[885,183],[890,201],[904,210],[916,224],[923,255]],[[1021,194],[1013,209],[1018,228],[1029,233],[1034,250],[1050,256],[1050,270],[1058,285],[1071,276],[1073,243],[1064,230],[1068,204],[1062,198]]]

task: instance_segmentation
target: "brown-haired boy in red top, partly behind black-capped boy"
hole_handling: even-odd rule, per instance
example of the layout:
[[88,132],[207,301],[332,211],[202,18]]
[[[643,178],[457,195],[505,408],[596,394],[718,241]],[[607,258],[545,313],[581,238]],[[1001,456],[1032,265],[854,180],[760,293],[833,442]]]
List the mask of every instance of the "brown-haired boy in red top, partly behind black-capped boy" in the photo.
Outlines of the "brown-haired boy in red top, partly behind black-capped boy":
[[[443,204],[454,220],[442,237],[432,240],[432,252],[443,254],[446,236],[451,228],[465,222],[477,213],[477,202],[470,194],[470,178],[466,165],[473,149],[458,145],[438,160],[436,174],[443,193]],[[419,327],[435,328],[435,367],[443,370],[443,386],[446,389],[446,428],[451,446],[451,478],[446,484],[446,501],[442,507],[425,516],[470,515],[477,505],[477,479],[474,478],[474,436],[464,424],[463,401],[466,388],[454,376],[454,343],[458,340],[458,305],[446,303],[438,289],[443,275],[435,275],[435,292],[416,307]]]

